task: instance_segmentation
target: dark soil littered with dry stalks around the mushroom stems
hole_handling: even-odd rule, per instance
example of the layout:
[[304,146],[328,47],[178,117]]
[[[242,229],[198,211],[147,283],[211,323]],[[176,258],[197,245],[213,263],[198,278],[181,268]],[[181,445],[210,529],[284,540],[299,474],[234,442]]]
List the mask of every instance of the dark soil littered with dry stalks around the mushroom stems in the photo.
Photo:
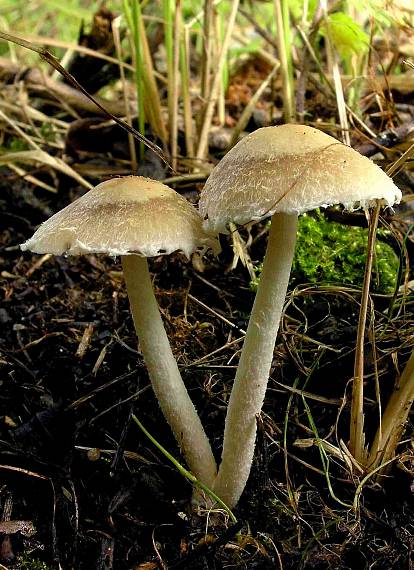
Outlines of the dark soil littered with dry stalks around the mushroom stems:
[[[11,505],[12,521],[32,521],[37,532],[0,535],[1,562],[9,569],[43,568],[41,561],[88,570],[411,568],[412,426],[400,449],[406,460],[396,462],[382,486],[366,482],[358,511],[350,508],[357,473],[352,478],[343,461],[324,455],[314,440],[315,430],[336,447],[347,439],[349,410],[340,406],[352,376],[357,294],[312,287],[291,297],[255,464],[235,511],[240,522],[216,515],[208,526],[206,513],[189,509],[189,483],[131,422],[134,413],[184,463],[137,351],[117,260],[48,257],[39,264],[39,256],[19,249],[77,193],[39,194],[3,173],[0,501],[3,509]],[[254,258],[260,259],[264,242],[256,242]],[[217,458],[240,344],[191,363],[241,336],[253,299],[243,269],[226,273],[232,254],[223,246],[202,274],[180,255],[151,263],[173,350]],[[389,299],[379,299],[378,310],[381,303]],[[305,315],[307,338],[316,344],[303,337]],[[379,313],[378,327],[381,319]],[[395,378],[393,347],[410,327],[407,308],[378,341],[385,395]],[[400,366],[406,356],[400,355]],[[372,363],[368,350],[368,373]],[[310,393],[308,409],[300,389]],[[370,436],[376,412],[369,383]]]

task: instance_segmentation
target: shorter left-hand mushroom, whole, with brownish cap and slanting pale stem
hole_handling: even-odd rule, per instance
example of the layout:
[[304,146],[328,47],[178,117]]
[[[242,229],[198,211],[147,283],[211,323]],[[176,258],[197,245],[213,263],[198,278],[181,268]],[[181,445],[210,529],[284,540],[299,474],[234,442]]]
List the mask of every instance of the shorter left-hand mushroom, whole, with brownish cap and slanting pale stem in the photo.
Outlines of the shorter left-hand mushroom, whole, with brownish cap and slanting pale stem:
[[96,186],[21,245],[55,255],[120,255],[135,329],[161,410],[194,475],[206,485],[216,463],[171,351],[146,257],[215,247],[196,209],[150,178],[125,176]]

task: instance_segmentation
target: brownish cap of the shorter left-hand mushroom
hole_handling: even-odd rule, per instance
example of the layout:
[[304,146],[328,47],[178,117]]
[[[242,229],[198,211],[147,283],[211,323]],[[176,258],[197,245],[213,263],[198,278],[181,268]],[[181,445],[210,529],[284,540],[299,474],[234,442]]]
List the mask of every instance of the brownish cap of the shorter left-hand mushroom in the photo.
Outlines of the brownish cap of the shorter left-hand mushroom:
[[161,182],[141,176],[113,178],[44,222],[23,251],[153,257],[215,248],[197,210]]

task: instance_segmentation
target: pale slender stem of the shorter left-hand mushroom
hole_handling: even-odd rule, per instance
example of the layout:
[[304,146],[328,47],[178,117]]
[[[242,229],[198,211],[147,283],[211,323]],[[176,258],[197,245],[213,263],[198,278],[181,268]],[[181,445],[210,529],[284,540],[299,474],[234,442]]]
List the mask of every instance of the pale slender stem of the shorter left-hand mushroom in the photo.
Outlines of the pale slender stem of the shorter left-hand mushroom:
[[147,260],[138,255],[121,259],[135,330],[158,403],[188,467],[200,481],[211,486],[216,462],[171,351]]

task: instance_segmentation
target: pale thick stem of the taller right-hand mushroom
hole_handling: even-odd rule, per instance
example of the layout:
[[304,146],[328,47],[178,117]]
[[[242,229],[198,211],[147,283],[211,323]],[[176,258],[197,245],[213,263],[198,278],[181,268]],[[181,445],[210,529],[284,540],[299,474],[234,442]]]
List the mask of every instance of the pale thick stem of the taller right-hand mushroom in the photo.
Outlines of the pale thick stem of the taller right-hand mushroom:
[[227,409],[215,493],[232,508],[249,477],[280,318],[289,284],[298,217],[274,214],[260,283]]

